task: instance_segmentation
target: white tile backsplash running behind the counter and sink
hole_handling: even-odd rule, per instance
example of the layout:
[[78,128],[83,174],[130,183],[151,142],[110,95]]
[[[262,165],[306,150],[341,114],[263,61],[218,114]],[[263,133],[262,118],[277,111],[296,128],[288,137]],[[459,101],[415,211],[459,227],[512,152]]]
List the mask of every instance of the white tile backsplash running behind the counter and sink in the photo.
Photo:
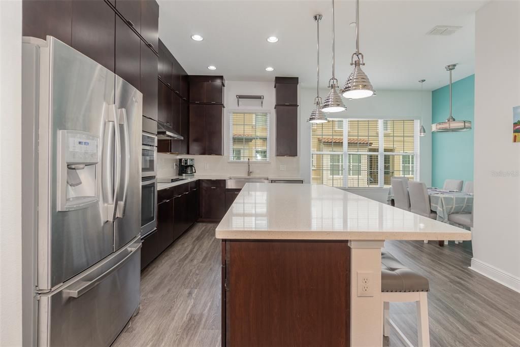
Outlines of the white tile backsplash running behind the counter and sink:
[[[247,176],[248,164],[230,163],[225,155],[175,155],[158,153],[158,177],[176,176],[178,159],[194,158],[198,175]],[[274,157],[268,163],[251,163],[252,176],[300,177],[298,157]]]

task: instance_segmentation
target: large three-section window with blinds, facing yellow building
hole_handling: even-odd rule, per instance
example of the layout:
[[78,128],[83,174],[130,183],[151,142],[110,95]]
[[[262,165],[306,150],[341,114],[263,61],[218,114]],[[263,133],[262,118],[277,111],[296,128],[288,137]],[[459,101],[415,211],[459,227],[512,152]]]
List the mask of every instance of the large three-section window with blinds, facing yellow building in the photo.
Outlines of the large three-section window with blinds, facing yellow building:
[[419,121],[413,120],[330,119],[313,124],[311,182],[381,188],[390,186],[395,176],[417,180],[418,132]]

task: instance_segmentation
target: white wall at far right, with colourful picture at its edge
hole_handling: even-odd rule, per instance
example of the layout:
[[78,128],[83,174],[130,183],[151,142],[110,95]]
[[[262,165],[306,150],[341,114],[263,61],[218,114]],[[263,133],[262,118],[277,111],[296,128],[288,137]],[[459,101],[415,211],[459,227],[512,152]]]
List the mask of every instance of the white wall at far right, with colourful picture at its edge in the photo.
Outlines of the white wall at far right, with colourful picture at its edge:
[[472,269],[520,291],[520,4],[494,1],[475,17],[475,206]]

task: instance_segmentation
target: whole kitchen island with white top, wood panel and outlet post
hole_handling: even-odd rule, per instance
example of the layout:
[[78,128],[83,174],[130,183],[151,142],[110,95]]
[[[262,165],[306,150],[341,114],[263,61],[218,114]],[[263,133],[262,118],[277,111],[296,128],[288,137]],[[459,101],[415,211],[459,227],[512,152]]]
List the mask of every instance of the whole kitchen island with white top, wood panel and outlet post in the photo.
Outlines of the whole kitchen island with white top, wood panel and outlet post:
[[216,237],[223,345],[381,346],[384,241],[471,233],[329,186],[248,183]]

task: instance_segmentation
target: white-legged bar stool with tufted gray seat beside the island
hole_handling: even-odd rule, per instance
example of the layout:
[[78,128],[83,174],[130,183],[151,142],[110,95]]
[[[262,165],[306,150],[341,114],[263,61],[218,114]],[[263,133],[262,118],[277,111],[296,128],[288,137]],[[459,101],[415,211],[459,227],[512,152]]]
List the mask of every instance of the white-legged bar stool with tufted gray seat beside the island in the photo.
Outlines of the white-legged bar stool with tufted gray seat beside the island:
[[430,346],[428,324],[428,279],[408,269],[385,250],[381,251],[381,298],[383,301],[383,335],[388,336],[388,325],[397,331],[399,338],[413,346],[397,325],[390,319],[390,302],[415,302],[417,308],[417,340],[420,347]]

